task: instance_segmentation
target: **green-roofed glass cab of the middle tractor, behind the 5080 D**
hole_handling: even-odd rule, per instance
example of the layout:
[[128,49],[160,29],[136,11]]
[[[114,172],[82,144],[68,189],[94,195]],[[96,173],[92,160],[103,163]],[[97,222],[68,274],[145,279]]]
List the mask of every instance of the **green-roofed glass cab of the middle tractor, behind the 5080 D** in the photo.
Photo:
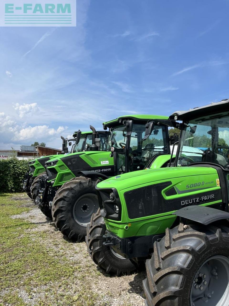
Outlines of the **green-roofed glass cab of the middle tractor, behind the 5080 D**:
[[165,116],[122,116],[104,122],[109,128],[107,151],[114,157],[115,175],[143,170],[154,156],[170,154],[168,126],[174,126]]

